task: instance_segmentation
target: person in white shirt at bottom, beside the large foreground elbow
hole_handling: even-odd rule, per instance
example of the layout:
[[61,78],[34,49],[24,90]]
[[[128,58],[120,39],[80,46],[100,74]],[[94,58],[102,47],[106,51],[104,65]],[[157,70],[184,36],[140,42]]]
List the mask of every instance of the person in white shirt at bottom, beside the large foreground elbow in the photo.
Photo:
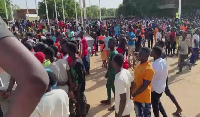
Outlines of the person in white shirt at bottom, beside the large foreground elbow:
[[30,117],[69,117],[69,97],[62,89],[52,90],[57,82],[56,75],[47,70],[49,86]]

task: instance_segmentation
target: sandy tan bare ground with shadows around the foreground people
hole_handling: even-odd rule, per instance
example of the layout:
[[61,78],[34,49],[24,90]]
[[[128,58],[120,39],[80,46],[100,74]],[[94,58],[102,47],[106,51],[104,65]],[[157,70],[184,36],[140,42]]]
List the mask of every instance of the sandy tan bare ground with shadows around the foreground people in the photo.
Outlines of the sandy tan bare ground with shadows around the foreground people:
[[[200,117],[200,62],[188,71],[186,67],[183,74],[176,75],[177,57],[168,57],[169,66],[169,87],[175,95],[179,104],[183,109],[184,117]],[[101,67],[102,61],[99,56],[91,57],[91,75],[87,77],[86,97],[91,109],[88,117],[114,117],[114,112],[107,111],[108,107],[101,105],[100,101],[107,98],[106,79],[104,78],[106,69]],[[171,100],[163,94],[161,97],[162,104],[169,117],[173,117],[172,113],[176,111]],[[134,111],[131,117],[135,117]],[[153,117],[153,116],[152,116]]]

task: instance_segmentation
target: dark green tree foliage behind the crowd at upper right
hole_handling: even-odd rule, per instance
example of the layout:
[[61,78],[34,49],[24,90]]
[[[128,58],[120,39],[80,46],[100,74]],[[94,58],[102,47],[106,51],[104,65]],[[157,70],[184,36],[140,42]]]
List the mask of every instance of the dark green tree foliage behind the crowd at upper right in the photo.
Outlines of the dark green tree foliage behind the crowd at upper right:
[[[179,0],[123,0],[117,9],[118,16],[175,16]],[[175,9],[159,9],[158,6],[175,4]],[[199,9],[200,0],[182,0],[182,14],[191,14]]]

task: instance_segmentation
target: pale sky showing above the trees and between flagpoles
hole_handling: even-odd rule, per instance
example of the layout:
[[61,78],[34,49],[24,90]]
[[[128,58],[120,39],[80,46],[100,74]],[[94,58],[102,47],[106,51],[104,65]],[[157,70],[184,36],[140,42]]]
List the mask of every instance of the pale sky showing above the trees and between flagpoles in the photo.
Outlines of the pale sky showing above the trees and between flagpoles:
[[[13,4],[17,4],[20,8],[26,9],[26,0],[11,0]],[[35,0],[27,0],[28,8],[35,9]],[[42,0],[36,0],[40,2]],[[77,2],[79,0],[76,0]],[[118,8],[118,6],[122,3],[123,0],[101,0],[101,7],[105,8]],[[99,0],[86,0],[86,6],[90,5],[98,5]]]

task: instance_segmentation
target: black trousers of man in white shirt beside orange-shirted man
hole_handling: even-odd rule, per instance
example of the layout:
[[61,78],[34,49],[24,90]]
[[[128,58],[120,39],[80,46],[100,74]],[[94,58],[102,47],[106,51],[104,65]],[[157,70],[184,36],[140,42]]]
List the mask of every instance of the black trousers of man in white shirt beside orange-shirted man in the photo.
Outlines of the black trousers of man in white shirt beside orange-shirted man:
[[161,96],[162,96],[162,93],[158,94],[155,91],[151,92],[151,104],[153,108],[154,117],[159,117],[159,111],[162,113],[163,117],[167,117],[165,109],[162,103],[160,102]]

